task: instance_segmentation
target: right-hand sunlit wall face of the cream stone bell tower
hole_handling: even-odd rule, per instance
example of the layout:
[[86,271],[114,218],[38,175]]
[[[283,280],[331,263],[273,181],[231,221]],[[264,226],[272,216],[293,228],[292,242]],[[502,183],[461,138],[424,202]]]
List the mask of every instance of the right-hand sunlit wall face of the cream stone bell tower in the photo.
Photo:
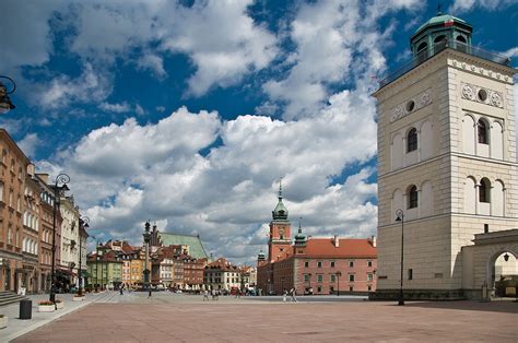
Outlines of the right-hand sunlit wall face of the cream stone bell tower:
[[[482,100],[478,91],[488,98]],[[472,93],[471,93],[472,92]],[[493,94],[496,96],[493,98]],[[462,286],[462,246],[471,246],[475,234],[518,227],[518,170],[516,164],[516,131],[514,114],[513,70],[480,58],[457,51],[448,56],[448,97],[450,103],[451,141],[451,282]],[[466,116],[490,123],[490,146],[485,151],[467,152],[463,143]],[[502,154],[492,154],[492,129],[502,125]],[[483,146],[484,147],[484,146]],[[466,196],[466,180],[473,177],[478,184],[487,178],[494,190],[495,182],[503,182],[503,211],[495,213],[494,203],[475,203],[474,211],[467,211],[471,200]],[[479,186],[476,186],[479,187]],[[479,187],[480,189],[480,187]],[[492,193],[493,194],[493,193]],[[478,197],[478,193],[475,194]],[[475,199],[478,201],[478,199]],[[487,209],[483,209],[486,205]],[[485,211],[484,211],[485,210]],[[487,212],[488,211],[488,212]]]

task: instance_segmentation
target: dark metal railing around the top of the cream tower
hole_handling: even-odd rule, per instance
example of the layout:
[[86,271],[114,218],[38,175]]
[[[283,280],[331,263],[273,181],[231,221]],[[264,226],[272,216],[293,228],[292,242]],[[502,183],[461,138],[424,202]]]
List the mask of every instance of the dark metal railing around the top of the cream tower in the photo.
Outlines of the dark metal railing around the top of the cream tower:
[[495,52],[491,52],[484,49],[481,49],[479,47],[474,47],[468,44],[463,44],[460,42],[452,42],[452,40],[443,40],[437,44],[434,44],[432,47],[427,49],[423,49],[421,52],[417,54],[417,56],[413,57],[410,61],[404,63],[402,67],[399,69],[390,72],[385,79],[379,81],[379,88],[382,88],[390,82],[399,79],[401,75],[404,73],[409,72],[410,70],[414,69],[419,64],[423,63],[426,61],[428,58],[439,54],[440,51],[450,48],[455,49],[458,51],[462,51],[464,54],[471,55],[471,56],[476,56],[482,59],[504,64],[507,67],[510,67],[510,58],[506,56],[502,56]]

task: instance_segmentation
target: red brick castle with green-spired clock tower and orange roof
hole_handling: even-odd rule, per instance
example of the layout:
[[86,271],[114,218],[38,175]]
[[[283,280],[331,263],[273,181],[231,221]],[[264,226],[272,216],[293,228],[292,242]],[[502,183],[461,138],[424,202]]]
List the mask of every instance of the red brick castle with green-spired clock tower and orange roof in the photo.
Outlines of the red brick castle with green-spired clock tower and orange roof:
[[307,238],[302,228],[291,240],[287,210],[279,202],[272,212],[268,260],[258,256],[257,287],[262,294],[354,294],[376,291],[375,237],[367,239]]

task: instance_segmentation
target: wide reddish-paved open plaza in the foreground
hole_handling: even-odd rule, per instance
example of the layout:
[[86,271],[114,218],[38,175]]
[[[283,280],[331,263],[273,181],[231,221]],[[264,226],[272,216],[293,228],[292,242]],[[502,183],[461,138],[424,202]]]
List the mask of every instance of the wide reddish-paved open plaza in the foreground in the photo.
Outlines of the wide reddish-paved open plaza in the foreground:
[[[13,342],[517,342],[518,304],[104,296]],[[0,332],[1,335],[1,332]]]

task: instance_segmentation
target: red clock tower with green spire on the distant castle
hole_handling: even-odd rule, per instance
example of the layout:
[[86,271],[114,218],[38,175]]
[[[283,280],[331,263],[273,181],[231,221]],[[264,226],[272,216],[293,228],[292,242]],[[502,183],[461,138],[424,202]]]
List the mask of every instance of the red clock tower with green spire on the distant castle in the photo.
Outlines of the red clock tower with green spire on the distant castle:
[[272,211],[270,239],[268,240],[268,261],[274,262],[290,251],[292,223],[287,220],[287,210],[282,202],[282,184],[279,185],[279,202]]

